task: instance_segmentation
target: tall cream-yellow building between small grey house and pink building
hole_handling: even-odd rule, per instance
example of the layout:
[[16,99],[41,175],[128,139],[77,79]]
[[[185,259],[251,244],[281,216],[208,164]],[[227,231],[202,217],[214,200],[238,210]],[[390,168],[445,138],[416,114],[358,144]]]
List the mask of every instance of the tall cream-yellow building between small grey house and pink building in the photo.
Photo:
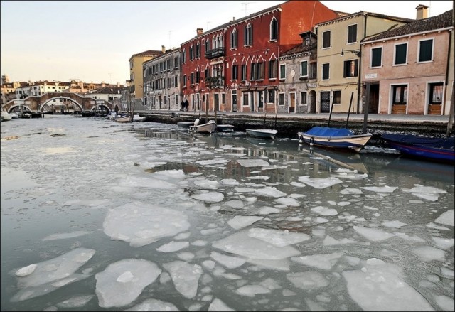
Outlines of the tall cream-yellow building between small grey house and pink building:
[[[411,21],[414,20],[360,11],[316,24],[316,112],[362,112],[360,41]],[[371,103],[371,107],[375,104]]]

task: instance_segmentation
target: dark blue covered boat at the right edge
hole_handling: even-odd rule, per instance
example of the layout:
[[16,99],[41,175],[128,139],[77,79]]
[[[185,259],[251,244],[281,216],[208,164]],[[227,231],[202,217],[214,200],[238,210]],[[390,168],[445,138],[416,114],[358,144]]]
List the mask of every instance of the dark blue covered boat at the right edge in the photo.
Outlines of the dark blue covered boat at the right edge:
[[455,163],[454,136],[435,138],[414,134],[382,134],[380,139],[404,156]]

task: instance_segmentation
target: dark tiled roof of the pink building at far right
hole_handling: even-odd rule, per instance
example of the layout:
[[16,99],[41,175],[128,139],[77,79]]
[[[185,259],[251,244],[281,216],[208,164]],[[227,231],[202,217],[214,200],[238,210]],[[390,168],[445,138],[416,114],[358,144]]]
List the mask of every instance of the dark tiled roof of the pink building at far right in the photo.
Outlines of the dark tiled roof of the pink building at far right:
[[452,11],[449,10],[443,14],[432,16],[429,18],[422,18],[406,25],[391,29],[390,31],[384,31],[374,36],[363,39],[362,42],[376,41],[385,38],[393,38],[410,35],[412,33],[424,33],[427,31],[434,31],[442,28],[453,27],[452,25]]

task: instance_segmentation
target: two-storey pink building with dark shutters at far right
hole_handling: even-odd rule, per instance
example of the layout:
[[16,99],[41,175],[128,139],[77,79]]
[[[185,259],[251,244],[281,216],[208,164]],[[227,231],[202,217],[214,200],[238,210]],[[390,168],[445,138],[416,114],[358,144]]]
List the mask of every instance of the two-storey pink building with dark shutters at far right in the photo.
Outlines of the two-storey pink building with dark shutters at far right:
[[449,114],[453,10],[430,18],[426,11],[419,5],[417,21],[362,42],[364,94],[377,114]]

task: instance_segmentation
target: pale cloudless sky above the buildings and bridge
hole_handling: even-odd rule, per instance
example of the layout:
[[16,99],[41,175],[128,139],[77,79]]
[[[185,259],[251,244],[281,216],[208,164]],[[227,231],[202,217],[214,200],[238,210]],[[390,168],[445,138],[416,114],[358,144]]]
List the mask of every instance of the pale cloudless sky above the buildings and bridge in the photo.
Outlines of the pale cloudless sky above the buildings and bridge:
[[[73,79],[125,84],[129,58],[179,47],[204,31],[285,1],[1,1],[1,75],[10,81]],[[329,9],[416,17],[454,1],[321,1]]]

